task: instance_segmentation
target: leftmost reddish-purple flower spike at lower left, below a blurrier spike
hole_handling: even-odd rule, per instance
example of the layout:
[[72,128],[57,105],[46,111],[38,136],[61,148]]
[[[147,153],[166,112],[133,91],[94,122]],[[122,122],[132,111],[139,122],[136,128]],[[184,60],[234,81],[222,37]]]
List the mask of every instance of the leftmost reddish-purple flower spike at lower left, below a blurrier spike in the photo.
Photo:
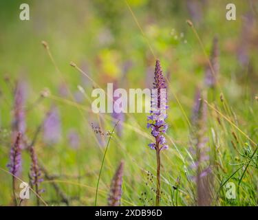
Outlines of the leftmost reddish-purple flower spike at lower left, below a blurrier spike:
[[10,162],[7,166],[12,175],[19,175],[21,171],[21,132],[17,134],[14,146],[11,148]]

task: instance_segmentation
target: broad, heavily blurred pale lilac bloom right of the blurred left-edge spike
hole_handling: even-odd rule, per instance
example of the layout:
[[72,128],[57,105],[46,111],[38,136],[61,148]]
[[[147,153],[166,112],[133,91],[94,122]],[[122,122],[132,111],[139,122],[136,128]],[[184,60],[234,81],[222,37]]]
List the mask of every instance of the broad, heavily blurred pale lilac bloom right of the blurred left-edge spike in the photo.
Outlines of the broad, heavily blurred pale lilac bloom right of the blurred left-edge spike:
[[56,144],[61,140],[61,120],[56,107],[47,113],[43,124],[43,140],[47,144]]

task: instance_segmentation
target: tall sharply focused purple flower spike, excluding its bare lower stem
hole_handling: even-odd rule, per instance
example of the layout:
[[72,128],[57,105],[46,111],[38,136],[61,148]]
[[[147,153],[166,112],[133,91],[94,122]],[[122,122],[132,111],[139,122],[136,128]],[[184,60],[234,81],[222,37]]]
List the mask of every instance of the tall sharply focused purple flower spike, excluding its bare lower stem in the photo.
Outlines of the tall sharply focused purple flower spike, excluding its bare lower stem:
[[162,151],[168,148],[165,137],[162,135],[166,133],[168,128],[165,119],[167,118],[166,109],[168,109],[166,94],[166,82],[162,75],[160,61],[156,61],[155,76],[153,89],[151,91],[151,115],[148,115],[147,128],[151,128],[151,135],[155,137],[155,142],[149,144],[151,149]]

